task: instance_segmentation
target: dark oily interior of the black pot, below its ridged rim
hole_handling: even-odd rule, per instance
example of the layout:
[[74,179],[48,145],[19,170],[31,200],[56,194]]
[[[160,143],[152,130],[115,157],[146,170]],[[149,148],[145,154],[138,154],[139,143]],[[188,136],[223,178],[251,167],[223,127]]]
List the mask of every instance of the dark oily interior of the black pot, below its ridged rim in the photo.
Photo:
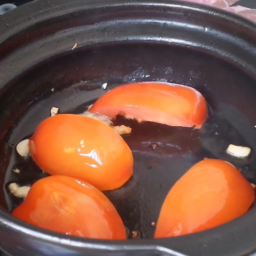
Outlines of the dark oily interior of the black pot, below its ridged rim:
[[[137,124],[118,117],[116,124],[132,127],[124,136],[134,156],[134,175],[123,187],[104,192],[116,206],[129,236],[152,238],[157,217],[172,185],[204,157],[234,164],[252,183],[255,179],[256,78],[224,58],[202,50],[169,44],[106,44],[75,49],[24,72],[0,94],[0,204],[11,211],[21,200],[10,195],[8,184],[31,185],[47,176],[33,161],[15,151],[50,114],[81,113],[107,90],[131,82],[164,81],[184,84],[201,92],[209,117],[200,130]],[[97,136],[95,134],[95,136]],[[156,149],[150,146],[158,145]],[[228,145],[252,148],[246,159],[225,153]],[[12,170],[19,168],[20,173]]]

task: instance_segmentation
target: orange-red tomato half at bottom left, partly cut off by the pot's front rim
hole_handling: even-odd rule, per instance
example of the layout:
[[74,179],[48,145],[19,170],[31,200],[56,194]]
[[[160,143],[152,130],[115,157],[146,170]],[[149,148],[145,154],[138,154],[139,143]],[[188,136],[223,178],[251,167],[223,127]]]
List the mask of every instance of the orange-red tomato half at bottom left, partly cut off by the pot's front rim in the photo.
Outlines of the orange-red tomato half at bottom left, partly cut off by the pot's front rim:
[[108,198],[89,183],[66,176],[36,181],[12,215],[67,235],[126,239],[123,222]]

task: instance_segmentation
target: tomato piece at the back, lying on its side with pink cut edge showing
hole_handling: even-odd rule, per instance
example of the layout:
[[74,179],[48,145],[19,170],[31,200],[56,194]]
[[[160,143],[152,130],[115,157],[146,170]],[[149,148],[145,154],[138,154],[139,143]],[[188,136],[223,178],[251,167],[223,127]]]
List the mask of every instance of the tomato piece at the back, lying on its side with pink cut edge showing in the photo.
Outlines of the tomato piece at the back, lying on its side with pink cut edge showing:
[[89,109],[115,118],[151,121],[171,126],[200,128],[207,116],[207,104],[195,89],[163,82],[141,82],[117,86],[101,96]]

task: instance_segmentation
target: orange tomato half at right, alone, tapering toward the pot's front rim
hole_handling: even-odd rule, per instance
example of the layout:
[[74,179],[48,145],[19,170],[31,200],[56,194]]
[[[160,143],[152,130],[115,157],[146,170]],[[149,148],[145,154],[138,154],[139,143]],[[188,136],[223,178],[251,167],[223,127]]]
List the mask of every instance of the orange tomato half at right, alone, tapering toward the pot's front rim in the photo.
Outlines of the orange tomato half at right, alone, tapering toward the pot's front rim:
[[204,159],[169,191],[155,238],[190,234],[226,223],[247,212],[254,198],[251,184],[232,164]]

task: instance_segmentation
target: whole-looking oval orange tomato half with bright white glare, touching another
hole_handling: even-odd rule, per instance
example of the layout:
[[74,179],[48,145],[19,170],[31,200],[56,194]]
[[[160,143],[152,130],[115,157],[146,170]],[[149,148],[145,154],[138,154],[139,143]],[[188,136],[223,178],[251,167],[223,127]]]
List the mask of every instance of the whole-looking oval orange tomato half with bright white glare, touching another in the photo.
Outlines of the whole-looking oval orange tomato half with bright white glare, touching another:
[[30,138],[29,151],[45,172],[82,179],[100,190],[119,188],[132,176],[130,148],[112,128],[91,117],[45,119]]

